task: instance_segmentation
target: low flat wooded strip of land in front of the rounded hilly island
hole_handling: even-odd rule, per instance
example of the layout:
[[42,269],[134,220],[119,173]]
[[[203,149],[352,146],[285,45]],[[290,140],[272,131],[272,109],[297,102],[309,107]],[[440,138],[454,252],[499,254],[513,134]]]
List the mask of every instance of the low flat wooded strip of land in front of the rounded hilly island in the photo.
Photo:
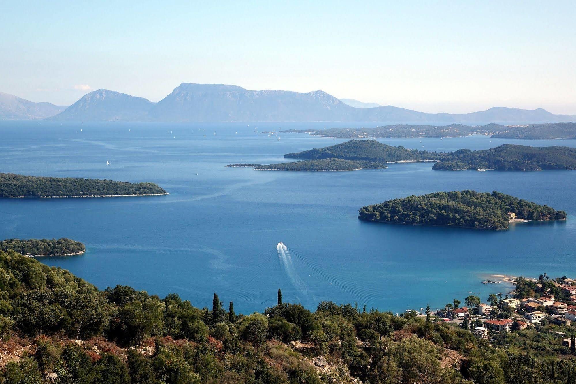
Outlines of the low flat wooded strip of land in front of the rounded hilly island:
[[351,161],[330,158],[257,165],[254,167],[255,170],[261,171],[357,171],[375,168],[388,168],[388,165],[373,163],[371,161]]

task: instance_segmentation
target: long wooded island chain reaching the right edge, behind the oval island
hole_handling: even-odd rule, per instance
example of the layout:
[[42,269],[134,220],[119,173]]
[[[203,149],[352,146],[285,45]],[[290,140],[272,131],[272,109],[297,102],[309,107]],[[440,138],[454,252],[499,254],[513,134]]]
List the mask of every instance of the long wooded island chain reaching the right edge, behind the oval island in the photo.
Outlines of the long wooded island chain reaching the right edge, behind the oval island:
[[566,146],[533,147],[502,144],[484,150],[458,149],[454,152],[429,152],[403,146],[382,144],[376,140],[350,140],[325,148],[286,153],[279,164],[230,164],[229,167],[253,167],[256,170],[350,171],[387,168],[387,163],[432,161],[433,170],[576,170],[576,148]]

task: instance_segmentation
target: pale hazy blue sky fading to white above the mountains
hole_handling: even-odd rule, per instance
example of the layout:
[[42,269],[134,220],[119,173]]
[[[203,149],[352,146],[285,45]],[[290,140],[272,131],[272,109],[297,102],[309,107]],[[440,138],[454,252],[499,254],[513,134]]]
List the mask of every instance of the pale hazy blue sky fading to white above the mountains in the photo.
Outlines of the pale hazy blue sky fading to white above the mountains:
[[181,82],[426,112],[576,114],[576,2],[0,0],[0,91],[71,104]]

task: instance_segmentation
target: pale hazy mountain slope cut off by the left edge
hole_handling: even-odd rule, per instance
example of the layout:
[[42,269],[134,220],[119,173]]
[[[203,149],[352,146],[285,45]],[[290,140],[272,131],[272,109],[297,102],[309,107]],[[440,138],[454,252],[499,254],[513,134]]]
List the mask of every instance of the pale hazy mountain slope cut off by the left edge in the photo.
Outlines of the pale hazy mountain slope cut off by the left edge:
[[44,119],[62,112],[65,108],[50,103],[34,103],[0,92],[0,120]]

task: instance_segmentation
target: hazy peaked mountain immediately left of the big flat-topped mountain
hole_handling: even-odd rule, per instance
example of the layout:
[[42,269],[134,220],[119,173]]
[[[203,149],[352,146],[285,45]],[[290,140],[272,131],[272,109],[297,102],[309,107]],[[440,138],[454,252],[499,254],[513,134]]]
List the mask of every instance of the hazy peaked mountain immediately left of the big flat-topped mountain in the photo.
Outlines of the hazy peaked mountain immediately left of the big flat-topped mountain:
[[50,120],[55,121],[142,121],[154,106],[143,97],[97,89],[66,108]]

